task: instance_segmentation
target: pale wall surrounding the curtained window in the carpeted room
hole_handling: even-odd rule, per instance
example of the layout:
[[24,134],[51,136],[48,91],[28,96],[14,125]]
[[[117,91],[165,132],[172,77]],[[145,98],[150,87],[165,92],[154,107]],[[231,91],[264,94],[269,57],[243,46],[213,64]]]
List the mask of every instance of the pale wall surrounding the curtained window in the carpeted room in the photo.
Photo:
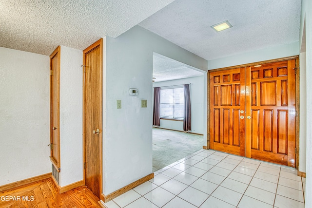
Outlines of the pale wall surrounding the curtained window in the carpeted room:
[[[192,114],[192,131],[193,133],[203,134],[203,115],[204,115],[204,76],[196,76],[185,79],[176,79],[170,81],[154,82],[154,87],[163,87],[171,85],[190,85],[191,95],[191,114]],[[154,92],[154,91],[152,91]],[[152,101],[153,107],[153,101]],[[183,131],[183,121],[173,121],[160,119],[160,127],[165,129],[172,129]]]

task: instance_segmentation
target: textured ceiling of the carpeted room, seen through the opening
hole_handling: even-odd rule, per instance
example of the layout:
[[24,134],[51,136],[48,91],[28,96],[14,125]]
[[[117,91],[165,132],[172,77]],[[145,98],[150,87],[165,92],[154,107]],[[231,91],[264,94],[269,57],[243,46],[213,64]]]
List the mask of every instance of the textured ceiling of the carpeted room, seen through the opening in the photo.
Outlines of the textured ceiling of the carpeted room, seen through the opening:
[[153,77],[155,82],[183,79],[193,76],[203,76],[202,72],[174,59],[153,54]]

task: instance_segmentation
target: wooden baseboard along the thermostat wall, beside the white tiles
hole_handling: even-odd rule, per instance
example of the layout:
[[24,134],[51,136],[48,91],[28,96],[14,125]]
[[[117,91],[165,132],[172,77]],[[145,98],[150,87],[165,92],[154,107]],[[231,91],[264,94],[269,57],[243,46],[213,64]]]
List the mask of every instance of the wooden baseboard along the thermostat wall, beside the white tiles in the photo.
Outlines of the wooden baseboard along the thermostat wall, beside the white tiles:
[[121,188],[121,189],[118,189],[118,190],[116,190],[113,193],[110,193],[108,195],[104,195],[102,193],[99,198],[104,203],[106,203],[106,202],[111,201],[112,199],[116,198],[117,196],[120,196],[121,194],[127,192],[128,190],[131,190],[131,189],[137,187],[138,185],[141,185],[141,184],[145,183],[146,181],[151,180],[152,178],[154,178],[154,173],[151,173],[151,174],[149,174],[149,175],[147,175],[141,179],[138,179],[137,181],[135,181],[135,182],[133,182],[133,183]]

